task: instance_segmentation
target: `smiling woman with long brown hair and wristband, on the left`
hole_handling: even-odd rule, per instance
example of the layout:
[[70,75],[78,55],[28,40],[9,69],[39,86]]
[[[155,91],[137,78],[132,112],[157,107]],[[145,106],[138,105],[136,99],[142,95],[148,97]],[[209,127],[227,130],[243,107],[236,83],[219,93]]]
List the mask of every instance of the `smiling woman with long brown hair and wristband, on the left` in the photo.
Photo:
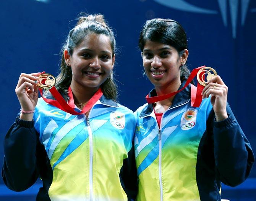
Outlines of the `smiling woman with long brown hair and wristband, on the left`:
[[3,180],[23,191],[40,177],[37,201],[132,200],[136,120],[117,104],[115,38],[102,15],[81,17],[62,49],[56,89],[78,115],[38,99],[40,73],[21,73],[21,113],[4,141]]

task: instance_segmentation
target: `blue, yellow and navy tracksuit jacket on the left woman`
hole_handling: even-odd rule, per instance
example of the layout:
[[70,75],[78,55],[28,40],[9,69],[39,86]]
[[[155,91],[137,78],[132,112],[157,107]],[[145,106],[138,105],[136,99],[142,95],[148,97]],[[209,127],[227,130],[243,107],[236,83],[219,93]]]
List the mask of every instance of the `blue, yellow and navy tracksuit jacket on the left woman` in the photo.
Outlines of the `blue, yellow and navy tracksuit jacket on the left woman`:
[[37,201],[125,201],[137,194],[128,108],[102,96],[88,118],[39,98],[33,121],[17,116],[4,140],[2,177],[23,191],[40,177]]

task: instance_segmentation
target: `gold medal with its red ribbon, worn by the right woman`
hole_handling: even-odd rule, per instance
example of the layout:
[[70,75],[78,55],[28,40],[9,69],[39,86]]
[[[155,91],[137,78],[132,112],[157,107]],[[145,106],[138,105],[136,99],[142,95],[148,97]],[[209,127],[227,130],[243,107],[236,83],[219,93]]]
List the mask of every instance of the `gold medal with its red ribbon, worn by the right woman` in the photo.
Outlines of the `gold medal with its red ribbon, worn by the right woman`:
[[[154,102],[163,101],[165,99],[168,99],[168,98],[176,95],[177,93],[179,93],[180,91],[185,89],[190,84],[190,82],[194,79],[194,77],[197,76],[197,78],[198,78],[197,87],[191,84],[191,106],[192,107],[199,107],[201,102],[202,102],[201,93],[204,89],[204,86],[206,86],[206,81],[204,81],[206,70],[204,70],[204,69],[210,69],[209,71],[213,70],[213,72],[214,72],[214,74],[211,74],[210,72],[208,73],[207,81],[211,80],[215,75],[217,75],[217,73],[215,72],[214,69],[206,67],[205,65],[201,66],[201,67],[198,67],[198,68],[192,70],[192,72],[190,73],[190,76],[188,77],[188,80],[186,81],[183,88],[181,88],[178,91],[172,92],[170,94],[165,94],[165,95],[162,95],[162,96],[149,97],[149,94],[147,94],[147,96],[146,96],[147,103],[151,104],[151,103],[154,103]],[[211,75],[209,75],[209,74],[211,74]],[[204,85],[201,85],[201,83],[203,83]]]

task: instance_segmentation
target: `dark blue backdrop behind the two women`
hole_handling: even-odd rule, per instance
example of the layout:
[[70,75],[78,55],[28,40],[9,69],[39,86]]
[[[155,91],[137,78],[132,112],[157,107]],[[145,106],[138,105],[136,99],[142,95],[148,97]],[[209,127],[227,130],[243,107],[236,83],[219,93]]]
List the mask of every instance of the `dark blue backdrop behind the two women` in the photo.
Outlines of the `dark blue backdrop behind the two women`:
[[[157,0],[156,0],[157,1]],[[60,49],[78,14],[102,13],[114,28],[119,52],[115,73],[119,85],[121,104],[136,110],[145,103],[152,85],[143,76],[143,66],[138,49],[138,36],[142,25],[151,18],[171,18],[180,22],[188,35],[190,69],[207,65],[217,70],[229,87],[228,102],[241,128],[256,150],[255,110],[255,0],[165,0],[189,3],[213,14],[189,11],[191,6],[170,8],[155,0],[8,0],[0,8],[0,61],[1,127],[0,164],[3,158],[3,138],[19,112],[15,86],[21,72],[58,73]],[[227,7],[222,16],[220,5]],[[237,6],[236,6],[237,3]],[[246,9],[246,3],[248,8]],[[232,5],[234,5],[232,7]],[[242,22],[242,8],[247,12]],[[237,9],[237,13],[235,13]],[[231,17],[233,14],[233,17]],[[223,20],[224,17],[226,21]],[[233,32],[232,32],[233,21]],[[236,26],[236,27],[235,27]],[[236,32],[236,33],[235,33]],[[225,153],[223,153],[225,154]],[[223,186],[222,197],[232,201],[256,200],[256,168],[245,183],[229,188]],[[0,180],[0,200],[35,200],[39,186],[23,193],[15,193]]]

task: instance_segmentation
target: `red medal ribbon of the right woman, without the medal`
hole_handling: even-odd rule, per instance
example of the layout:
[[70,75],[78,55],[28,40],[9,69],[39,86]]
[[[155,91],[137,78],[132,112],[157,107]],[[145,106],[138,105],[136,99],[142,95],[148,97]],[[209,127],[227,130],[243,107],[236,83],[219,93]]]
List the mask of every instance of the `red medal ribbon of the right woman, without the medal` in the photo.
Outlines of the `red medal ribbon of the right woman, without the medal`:
[[[204,66],[198,67],[196,69],[193,69],[190,76],[188,77],[188,80],[186,81],[185,85],[180,90],[172,92],[170,94],[165,94],[162,96],[154,96],[154,97],[149,97],[149,94],[147,94],[147,96],[146,96],[147,102],[150,104],[150,103],[154,103],[154,102],[158,102],[158,101],[163,101],[165,99],[168,99],[168,98],[176,95],[177,93],[179,93],[180,91],[185,89],[189,85],[189,83],[194,79],[194,77],[196,77],[196,74],[198,73],[198,71],[204,67],[206,67],[206,66],[204,65]],[[203,78],[204,78],[204,75],[203,75]],[[191,106],[192,107],[200,106],[200,104],[202,102],[201,93],[202,93],[203,89],[204,89],[204,86],[200,85],[199,83],[197,84],[197,87],[191,84]]]

